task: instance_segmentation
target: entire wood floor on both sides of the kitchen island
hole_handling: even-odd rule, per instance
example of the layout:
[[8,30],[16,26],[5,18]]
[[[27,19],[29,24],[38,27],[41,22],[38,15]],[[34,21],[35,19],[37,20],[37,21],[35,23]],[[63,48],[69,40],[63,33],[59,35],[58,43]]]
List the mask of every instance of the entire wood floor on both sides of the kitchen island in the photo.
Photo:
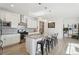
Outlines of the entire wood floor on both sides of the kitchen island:
[[[79,40],[64,38],[59,40],[57,46],[53,48],[49,55],[65,55],[68,43],[78,43]],[[3,55],[28,55],[25,47],[25,43],[17,44],[3,49]]]

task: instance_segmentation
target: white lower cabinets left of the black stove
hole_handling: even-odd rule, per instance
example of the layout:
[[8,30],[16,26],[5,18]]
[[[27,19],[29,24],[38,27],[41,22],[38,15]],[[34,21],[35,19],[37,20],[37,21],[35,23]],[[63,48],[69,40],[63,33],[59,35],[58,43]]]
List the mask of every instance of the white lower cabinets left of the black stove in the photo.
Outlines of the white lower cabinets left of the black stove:
[[2,35],[3,47],[13,45],[20,42],[20,34]]

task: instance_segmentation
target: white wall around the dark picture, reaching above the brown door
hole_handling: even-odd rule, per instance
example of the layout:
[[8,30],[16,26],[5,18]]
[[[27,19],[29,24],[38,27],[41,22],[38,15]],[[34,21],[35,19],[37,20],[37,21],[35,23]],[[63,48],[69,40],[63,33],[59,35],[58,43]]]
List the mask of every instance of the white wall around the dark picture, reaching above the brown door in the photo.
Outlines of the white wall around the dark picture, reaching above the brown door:
[[[58,33],[58,39],[63,38],[63,19],[57,18],[57,19],[43,19],[39,18],[39,21],[44,22],[44,35]],[[48,22],[55,22],[55,28],[48,28]],[[39,30],[38,30],[39,31]]]

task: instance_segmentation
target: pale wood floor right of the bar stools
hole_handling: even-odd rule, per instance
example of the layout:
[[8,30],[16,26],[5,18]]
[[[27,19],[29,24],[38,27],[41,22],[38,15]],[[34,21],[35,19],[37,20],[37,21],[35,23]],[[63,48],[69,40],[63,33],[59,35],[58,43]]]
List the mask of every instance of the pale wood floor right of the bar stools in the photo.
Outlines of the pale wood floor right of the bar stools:
[[66,50],[68,47],[68,43],[76,43],[79,44],[79,40],[64,38],[63,40],[59,40],[58,45],[49,53],[49,55],[67,55]]

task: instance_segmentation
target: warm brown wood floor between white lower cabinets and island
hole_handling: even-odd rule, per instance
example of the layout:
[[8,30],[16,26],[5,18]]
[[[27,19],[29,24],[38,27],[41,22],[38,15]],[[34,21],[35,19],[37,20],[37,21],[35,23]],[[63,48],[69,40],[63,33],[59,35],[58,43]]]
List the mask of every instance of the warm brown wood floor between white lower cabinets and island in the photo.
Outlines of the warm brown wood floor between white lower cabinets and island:
[[25,43],[4,48],[3,55],[27,55]]

